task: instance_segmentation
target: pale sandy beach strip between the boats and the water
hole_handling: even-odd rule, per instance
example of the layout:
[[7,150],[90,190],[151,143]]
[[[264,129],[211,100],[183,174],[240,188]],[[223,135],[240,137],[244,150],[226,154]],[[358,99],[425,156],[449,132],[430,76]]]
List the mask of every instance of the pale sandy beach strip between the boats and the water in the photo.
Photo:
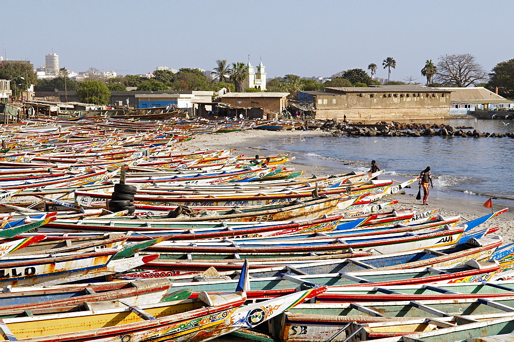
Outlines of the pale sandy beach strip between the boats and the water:
[[[309,137],[328,136],[329,133],[324,131],[265,131],[265,130],[246,130],[230,133],[211,133],[201,134],[195,136],[194,139],[179,144],[181,149],[234,149],[234,154],[251,156],[258,154],[261,157],[273,154],[288,154],[295,159],[288,163],[281,164],[281,166],[292,167],[296,170],[305,170],[303,177],[310,177],[311,175],[327,175],[339,174],[355,170],[350,163],[342,163],[341,161],[332,161],[326,159],[309,159],[302,155],[288,152],[281,149],[281,146],[276,146],[277,140],[284,141],[298,141],[299,143],[308,143]],[[394,170],[388,170],[394,171]],[[402,181],[404,178],[396,175],[385,174],[381,179],[395,179]],[[445,217],[452,217],[460,215],[462,217],[461,223],[479,218],[483,215],[491,213],[491,209],[484,208],[483,203],[487,200],[486,197],[479,195],[466,195],[465,197],[455,196],[451,193],[446,193],[440,189],[431,189],[429,197],[429,205],[423,206],[420,201],[415,200],[417,194],[417,186],[413,185],[410,189],[405,189],[405,195],[396,195],[392,198],[398,201],[397,204],[389,206],[386,211],[401,208],[414,208],[418,212],[423,212],[431,209],[439,209],[439,214]],[[507,207],[493,203],[493,211],[498,211]],[[499,227],[500,229],[495,233],[501,235],[504,243],[514,242],[514,211],[507,211],[492,219],[489,222],[481,225],[479,229]]]

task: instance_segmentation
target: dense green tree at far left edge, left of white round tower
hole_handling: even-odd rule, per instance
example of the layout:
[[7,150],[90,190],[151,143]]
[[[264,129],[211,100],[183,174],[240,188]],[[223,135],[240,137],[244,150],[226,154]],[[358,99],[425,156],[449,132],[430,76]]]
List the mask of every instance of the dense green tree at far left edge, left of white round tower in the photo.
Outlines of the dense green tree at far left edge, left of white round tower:
[[[21,61],[0,61],[0,79],[11,81],[12,94],[20,96],[31,84],[38,84],[38,77],[30,63]],[[14,94],[16,89],[16,94]]]

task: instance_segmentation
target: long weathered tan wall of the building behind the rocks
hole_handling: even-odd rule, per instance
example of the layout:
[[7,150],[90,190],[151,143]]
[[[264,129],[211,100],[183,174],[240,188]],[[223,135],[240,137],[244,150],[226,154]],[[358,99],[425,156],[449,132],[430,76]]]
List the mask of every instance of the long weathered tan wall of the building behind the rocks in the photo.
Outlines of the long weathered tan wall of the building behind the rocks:
[[450,93],[376,92],[314,95],[317,119],[389,121],[444,118]]

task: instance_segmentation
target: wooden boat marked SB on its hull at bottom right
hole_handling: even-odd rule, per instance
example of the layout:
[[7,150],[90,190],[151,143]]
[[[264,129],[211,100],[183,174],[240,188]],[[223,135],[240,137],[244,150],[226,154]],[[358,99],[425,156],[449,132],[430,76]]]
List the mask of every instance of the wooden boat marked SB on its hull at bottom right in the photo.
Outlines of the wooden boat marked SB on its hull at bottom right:
[[[325,341],[333,336],[334,341],[343,341],[350,334],[345,336],[345,327],[350,322],[359,323],[374,321],[407,320],[415,317],[433,317],[433,323],[439,320],[442,328],[444,321],[459,318],[460,323],[486,322],[491,318],[510,317],[512,318],[512,298],[514,297],[489,297],[471,299],[440,299],[440,300],[403,300],[383,303],[319,303],[300,304],[291,308],[283,317],[277,317],[273,323],[278,329],[272,330],[273,337],[283,341]],[[456,316],[456,317],[455,317]],[[280,324],[282,319],[283,324]],[[450,321],[451,323],[451,321]],[[465,326],[461,325],[459,327]],[[453,325],[446,325],[454,327]],[[281,327],[281,328],[280,328]],[[355,330],[353,330],[355,331]],[[302,334],[299,334],[302,332]],[[339,332],[341,335],[336,335]],[[362,333],[364,333],[362,331]],[[476,333],[476,332],[475,332]],[[409,337],[417,334],[409,334]],[[473,335],[476,337],[478,335]],[[365,336],[362,336],[365,338]],[[375,338],[380,336],[375,336]],[[384,336],[381,336],[384,337]],[[382,339],[378,339],[383,341]],[[384,339],[386,340],[386,339]],[[394,339],[393,339],[394,340]],[[423,338],[425,340],[425,338]],[[437,335],[440,340],[461,340],[460,338],[446,339],[445,335]],[[390,341],[387,339],[387,341]]]

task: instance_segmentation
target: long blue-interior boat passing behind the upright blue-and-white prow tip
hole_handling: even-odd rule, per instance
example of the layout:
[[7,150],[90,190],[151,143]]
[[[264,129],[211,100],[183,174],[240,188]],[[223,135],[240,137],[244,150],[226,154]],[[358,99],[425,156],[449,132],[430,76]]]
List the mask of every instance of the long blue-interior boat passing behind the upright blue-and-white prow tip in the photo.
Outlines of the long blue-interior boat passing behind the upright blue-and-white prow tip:
[[[416,267],[442,267],[463,264],[468,260],[488,261],[497,260],[495,250],[502,244],[501,237],[493,236],[482,239],[470,239],[466,243],[439,248],[398,252],[391,255],[374,255],[364,257],[349,257],[346,259],[271,259],[249,262],[252,269],[250,275],[256,277],[271,277],[279,274],[319,274],[336,272],[359,272],[366,270],[381,271],[390,269],[405,269]],[[512,251],[512,247],[510,249]],[[158,260],[145,264],[144,269],[160,272],[205,272],[215,267],[218,272],[238,269],[242,261],[227,262],[219,260],[166,260],[161,254]],[[292,267],[291,267],[292,266]],[[259,268],[253,272],[253,269]],[[235,277],[234,273],[221,273],[223,276]]]

